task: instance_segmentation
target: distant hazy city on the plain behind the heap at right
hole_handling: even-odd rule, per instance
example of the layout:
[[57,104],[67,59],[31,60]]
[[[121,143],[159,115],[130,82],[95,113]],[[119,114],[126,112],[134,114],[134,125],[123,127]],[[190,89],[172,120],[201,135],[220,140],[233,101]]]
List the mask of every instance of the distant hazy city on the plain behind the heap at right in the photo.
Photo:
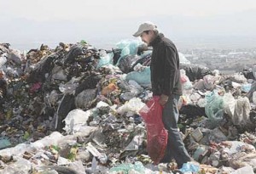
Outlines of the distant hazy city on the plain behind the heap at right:
[[256,64],[256,48],[197,48],[180,50],[180,52],[191,64],[205,65],[211,70],[220,70],[228,74],[253,68]]

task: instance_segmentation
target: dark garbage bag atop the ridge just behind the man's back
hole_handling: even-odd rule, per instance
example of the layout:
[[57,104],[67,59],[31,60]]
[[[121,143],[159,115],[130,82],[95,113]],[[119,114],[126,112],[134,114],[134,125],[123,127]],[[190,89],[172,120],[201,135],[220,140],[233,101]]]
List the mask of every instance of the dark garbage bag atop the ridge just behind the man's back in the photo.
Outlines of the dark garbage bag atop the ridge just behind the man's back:
[[180,64],[180,70],[186,70],[186,75],[190,81],[195,81],[207,75],[212,75],[212,71],[206,66],[193,65],[193,64]]

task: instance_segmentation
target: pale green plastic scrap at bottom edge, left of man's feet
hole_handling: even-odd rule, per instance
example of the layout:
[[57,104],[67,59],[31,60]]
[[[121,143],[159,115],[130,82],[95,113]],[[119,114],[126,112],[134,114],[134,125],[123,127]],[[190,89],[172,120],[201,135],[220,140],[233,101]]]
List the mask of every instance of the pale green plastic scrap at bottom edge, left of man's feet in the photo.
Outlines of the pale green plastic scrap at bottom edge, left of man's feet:
[[124,163],[119,166],[115,166],[110,169],[110,171],[122,172],[124,174],[128,174],[130,171],[138,171],[139,173],[145,173],[145,167],[143,163],[140,161],[135,162],[135,164]]

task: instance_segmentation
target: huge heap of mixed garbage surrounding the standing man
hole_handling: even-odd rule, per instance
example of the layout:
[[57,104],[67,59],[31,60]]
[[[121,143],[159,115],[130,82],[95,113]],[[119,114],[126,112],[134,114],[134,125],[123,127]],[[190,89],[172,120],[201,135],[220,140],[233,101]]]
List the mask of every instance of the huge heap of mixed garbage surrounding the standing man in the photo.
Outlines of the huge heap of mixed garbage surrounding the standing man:
[[[140,109],[150,91],[152,50],[121,41],[20,52],[0,44],[0,173],[172,173],[148,156]],[[182,56],[181,56],[182,57]],[[183,173],[256,171],[256,83],[181,59]],[[179,171],[179,172],[180,172]]]

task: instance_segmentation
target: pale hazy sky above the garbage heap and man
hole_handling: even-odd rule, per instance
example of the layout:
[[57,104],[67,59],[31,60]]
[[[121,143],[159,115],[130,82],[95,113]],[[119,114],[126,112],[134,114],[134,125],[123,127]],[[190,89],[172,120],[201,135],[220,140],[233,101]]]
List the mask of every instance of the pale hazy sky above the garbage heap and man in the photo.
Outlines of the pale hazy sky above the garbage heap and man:
[[151,20],[175,40],[256,36],[255,0],[0,0],[2,42],[108,44]]

